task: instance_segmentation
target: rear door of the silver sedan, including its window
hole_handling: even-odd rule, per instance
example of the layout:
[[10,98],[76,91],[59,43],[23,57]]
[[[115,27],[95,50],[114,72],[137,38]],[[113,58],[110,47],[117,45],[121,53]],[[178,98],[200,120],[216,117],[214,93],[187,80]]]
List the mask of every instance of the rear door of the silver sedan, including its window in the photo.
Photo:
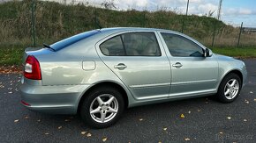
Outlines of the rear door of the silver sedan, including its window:
[[102,61],[138,100],[169,97],[169,60],[155,32],[122,32],[96,45]]

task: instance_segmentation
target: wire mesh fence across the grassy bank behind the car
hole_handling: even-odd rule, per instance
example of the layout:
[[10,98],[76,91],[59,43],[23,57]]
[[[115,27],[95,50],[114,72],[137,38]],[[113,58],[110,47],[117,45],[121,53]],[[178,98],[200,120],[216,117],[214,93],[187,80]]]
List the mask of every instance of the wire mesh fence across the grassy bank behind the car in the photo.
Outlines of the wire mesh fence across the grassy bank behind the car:
[[104,5],[106,1],[93,6],[86,0],[54,1],[58,3],[25,0],[11,4],[4,3],[6,1],[2,0],[4,9],[0,10],[1,43],[11,41],[40,46],[42,42],[52,43],[101,27],[137,26],[184,32],[209,47],[256,46],[256,26],[225,25],[207,16],[189,15],[184,18],[175,12],[163,10],[109,10],[110,4]]

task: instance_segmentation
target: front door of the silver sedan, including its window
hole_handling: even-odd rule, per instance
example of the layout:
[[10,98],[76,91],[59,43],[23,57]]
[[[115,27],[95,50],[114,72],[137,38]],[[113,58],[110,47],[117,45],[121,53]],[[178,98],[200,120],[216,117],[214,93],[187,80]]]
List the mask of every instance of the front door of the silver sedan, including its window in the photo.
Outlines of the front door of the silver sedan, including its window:
[[218,62],[204,57],[203,47],[195,40],[176,33],[161,32],[169,49],[171,65],[170,97],[186,97],[215,92]]

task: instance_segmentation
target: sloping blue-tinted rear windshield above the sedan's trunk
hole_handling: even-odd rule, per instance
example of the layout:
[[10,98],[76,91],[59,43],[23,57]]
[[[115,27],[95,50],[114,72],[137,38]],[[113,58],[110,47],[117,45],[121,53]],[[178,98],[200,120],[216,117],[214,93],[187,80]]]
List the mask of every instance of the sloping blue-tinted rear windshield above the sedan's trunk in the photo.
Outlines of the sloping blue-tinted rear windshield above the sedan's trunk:
[[52,45],[50,45],[50,47],[54,48],[56,51],[66,47],[66,46],[70,46],[76,42],[78,42],[79,40],[81,39],[87,39],[88,37],[90,36],[93,36],[94,34],[96,33],[99,33],[100,31],[97,31],[97,30],[93,30],[93,31],[88,31],[88,32],[82,32],[82,33],[79,33],[77,35],[74,35],[70,38],[67,38],[67,39],[63,39],[61,41],[58,41]]

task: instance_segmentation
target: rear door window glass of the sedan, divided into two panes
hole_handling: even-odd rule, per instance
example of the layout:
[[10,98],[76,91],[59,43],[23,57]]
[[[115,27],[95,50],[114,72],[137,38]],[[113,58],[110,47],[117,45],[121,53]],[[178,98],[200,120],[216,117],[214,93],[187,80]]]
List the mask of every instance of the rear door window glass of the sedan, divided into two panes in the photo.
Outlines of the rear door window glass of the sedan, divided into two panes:
[[100,46],[110,56],[161,56],[154,32],[128,32],[108,39]]

